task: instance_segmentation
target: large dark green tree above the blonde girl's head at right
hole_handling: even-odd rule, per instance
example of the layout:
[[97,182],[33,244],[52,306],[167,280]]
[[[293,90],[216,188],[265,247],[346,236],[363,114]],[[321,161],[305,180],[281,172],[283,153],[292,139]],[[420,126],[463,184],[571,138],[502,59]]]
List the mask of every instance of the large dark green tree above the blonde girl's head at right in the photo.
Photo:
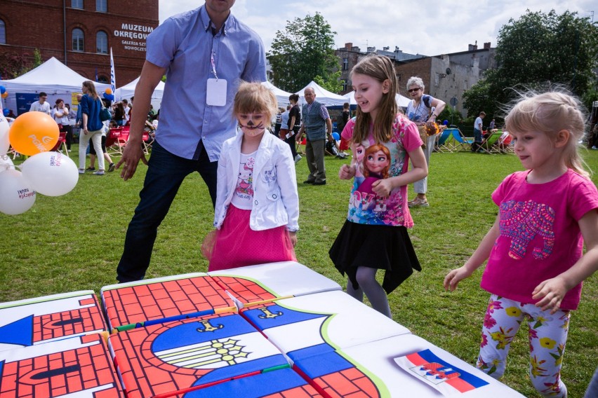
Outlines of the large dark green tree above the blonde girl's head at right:
[[598,66],[598,24],[569,11],[557,15],[554,10],[528,10],[500,28],[496,62],[496,70],[465,92],[468,116],[481,108],[496,113],[512,99],[513,88],[542,89],[558,83],[584,97],[596,81],[592,69]]

